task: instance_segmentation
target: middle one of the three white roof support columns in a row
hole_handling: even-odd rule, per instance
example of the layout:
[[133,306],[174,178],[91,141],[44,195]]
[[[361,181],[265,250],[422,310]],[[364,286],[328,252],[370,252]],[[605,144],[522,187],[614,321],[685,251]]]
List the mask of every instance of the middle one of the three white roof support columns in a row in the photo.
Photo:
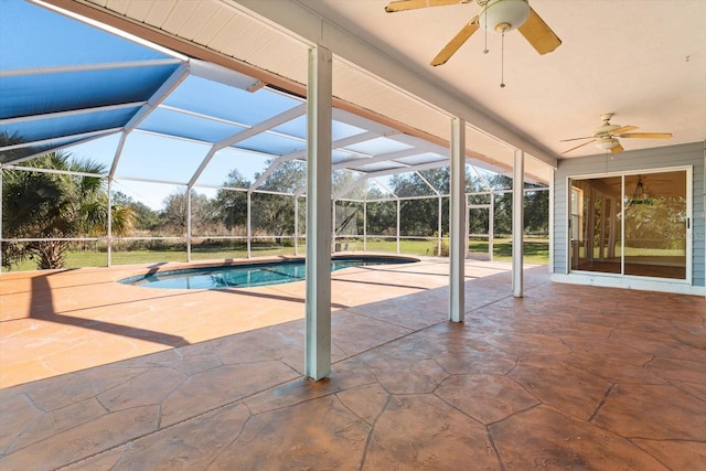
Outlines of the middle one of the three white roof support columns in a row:
[[449,320],[463,322],[466,317],[466,121],[451,120],[449,215]]

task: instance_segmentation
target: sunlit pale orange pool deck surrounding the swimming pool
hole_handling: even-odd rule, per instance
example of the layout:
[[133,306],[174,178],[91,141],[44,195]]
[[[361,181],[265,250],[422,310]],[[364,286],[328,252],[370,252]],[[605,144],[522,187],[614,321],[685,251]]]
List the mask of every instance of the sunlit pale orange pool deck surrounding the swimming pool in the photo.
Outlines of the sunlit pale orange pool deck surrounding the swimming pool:
[[[288,258],[256,260],[284,259]],[[117,282],[157,269],[207,265],[211,263],[3,274],[0,387],[303,318],[303,281],[221,290],[152,289]],[[467,275],[472,279],[507,269],[507,264],[486,263]],[[408,267],[335,271],[332,280],[333,310],[339,310],[446,286],[448,265],[426,258]]]

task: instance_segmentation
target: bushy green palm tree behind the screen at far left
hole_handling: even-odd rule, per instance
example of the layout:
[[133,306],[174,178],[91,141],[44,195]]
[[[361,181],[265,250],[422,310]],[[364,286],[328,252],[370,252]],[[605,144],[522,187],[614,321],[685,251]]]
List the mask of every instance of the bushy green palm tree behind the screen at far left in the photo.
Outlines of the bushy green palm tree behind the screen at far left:
[[[92,160],[71,159],[66,152],[52,152],[23,163],[23,167],[89,174],[105,173]],[[35,259],[39,269],[63,268],[69,238],[106,234],[108,194],[105,179],[66,173],[8,170],[2,179],[2,231],[4,238],[42,240],[2,245],[2,264],[10,267],[23,259]],[[113,208],[113,232],[125,235],[132,229],[130,208]]]

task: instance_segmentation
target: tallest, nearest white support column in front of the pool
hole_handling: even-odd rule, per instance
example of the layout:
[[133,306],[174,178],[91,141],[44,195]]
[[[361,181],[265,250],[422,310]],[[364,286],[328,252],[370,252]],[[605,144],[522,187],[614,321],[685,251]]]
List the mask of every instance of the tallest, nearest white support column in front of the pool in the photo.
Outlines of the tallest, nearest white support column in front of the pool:
[[309,50],[304,374],[331,373],[331,51]]

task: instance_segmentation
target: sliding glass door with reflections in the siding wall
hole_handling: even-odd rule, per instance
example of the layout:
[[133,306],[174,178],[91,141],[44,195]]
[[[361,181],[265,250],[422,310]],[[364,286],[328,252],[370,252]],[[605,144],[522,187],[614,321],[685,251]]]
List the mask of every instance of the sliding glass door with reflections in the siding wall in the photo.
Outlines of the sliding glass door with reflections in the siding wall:
[[687,279],[687,170],[570,180],[574,271]]

